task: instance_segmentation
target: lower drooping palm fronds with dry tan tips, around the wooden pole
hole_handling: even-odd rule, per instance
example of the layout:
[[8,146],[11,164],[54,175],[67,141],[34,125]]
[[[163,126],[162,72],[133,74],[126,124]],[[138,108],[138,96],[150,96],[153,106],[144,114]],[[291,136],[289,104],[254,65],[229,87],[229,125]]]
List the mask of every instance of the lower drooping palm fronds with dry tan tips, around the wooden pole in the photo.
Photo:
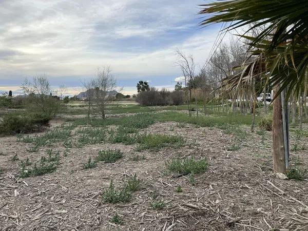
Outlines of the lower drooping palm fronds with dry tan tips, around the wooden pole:
[[[246,38],[253,40],[253,37]],[[251,84],[253,78],[261,78],[266,79],[268,85],[279,85],[278,93],[287,88],[287,99],[291,94],[298,95],[308,67],[307,41],[302,40],[292,47],[288,44],[280,45],[265,55],[264,47],[269,43],[263,40],[256,45],[256,49],[251,51],[251,57],[243,65],[234,67],[234,70],[240,71],[225,78],[222,87],[238,90],[240,86]]]

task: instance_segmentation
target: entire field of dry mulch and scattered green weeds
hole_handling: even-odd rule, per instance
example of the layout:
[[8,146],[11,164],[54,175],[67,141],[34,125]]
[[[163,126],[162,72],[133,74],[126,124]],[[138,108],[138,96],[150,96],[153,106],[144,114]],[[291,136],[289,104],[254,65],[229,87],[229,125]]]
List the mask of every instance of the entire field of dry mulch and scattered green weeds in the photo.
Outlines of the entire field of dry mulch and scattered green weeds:
[[306,124],[291,129],[281,180],[259,115],[251,132],[252,115],[189,117],[185,105],[85,111],[0,138],[0,230],[294,230],[306,216]]

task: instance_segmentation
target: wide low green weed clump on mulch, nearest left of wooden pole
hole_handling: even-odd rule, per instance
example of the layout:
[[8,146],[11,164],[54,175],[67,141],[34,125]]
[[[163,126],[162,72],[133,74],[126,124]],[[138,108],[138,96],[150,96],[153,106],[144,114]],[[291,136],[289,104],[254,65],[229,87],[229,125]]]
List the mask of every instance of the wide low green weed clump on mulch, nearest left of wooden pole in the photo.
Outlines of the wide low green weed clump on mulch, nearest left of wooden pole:
[[170,172],[177,174],[199,174],[207,170],[207,160],[196,160],[194,157],[185,159],[173,159],[165,162]]

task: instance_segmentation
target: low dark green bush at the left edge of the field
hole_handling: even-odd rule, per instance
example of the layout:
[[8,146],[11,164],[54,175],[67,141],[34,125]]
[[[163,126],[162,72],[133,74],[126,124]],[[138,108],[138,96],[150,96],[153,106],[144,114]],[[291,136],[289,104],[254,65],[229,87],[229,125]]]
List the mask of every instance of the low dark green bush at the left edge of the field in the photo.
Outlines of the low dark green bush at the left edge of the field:
[[18,115],[8,113],[0,124],[1,134],[30,133],[49,125],[50,117],[44,114]]

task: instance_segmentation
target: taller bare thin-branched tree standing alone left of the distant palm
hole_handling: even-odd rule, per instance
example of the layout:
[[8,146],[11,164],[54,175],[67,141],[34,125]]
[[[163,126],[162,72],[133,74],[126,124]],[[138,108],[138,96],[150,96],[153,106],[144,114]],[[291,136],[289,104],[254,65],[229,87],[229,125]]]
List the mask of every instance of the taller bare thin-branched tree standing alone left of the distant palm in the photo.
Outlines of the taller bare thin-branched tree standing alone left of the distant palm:
[[99,115],[105,119],[106,107],[113,98],[111,91],[116,87],[115,79],[111,74],[109,66],[98,68],[97,77],[93,81],[94,98],[93,101],[97,106]]

